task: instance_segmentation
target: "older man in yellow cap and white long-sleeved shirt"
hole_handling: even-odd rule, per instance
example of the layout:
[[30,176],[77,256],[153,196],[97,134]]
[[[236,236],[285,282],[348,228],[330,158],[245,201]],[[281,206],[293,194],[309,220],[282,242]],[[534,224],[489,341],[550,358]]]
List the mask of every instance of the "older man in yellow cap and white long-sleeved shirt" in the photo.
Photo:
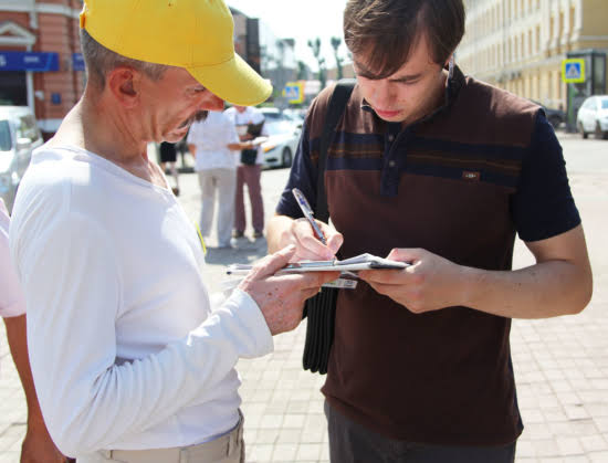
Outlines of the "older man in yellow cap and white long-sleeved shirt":
[[11,251],[31,366],[59,449],[81,462],[241,462],[239,358],[265,355],[337,275],[274,276],[286,248],[211,307],[203,250],[148,141],[270,85],[222,0],[85,0],[82,99],[23,179]]

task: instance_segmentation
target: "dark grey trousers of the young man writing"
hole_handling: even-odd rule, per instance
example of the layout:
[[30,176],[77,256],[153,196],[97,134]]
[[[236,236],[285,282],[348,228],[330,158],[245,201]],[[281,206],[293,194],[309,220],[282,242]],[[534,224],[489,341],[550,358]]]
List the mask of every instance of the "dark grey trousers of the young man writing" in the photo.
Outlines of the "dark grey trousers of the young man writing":
[[447,446],[396,441],[350,421],[325,401],[332,463],[513,463],[506,446]]

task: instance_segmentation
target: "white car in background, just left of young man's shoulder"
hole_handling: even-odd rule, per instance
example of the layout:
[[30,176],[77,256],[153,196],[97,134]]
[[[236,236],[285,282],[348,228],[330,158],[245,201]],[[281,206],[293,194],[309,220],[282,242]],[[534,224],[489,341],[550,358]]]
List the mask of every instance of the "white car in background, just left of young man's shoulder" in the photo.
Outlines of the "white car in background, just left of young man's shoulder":
[[264,167],[291,167],[293,156],[300,143],[301,129],[287,120],[266,119],[265,128],[269,133],[266,141],[262,143],[264,150]]

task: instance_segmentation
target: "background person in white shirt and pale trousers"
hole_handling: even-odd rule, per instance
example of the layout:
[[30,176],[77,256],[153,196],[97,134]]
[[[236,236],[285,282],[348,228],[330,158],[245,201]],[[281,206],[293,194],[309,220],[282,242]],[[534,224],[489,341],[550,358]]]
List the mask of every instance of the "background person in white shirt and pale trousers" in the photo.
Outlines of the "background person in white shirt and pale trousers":
[[237,157],[241,149],[253,148],[252,141],[240,141],[232,119],[219,112],[211,112],[206,118],[196,120],[186,141],[195,157],[201,191],[200,232],[203,238],[211,234],[217,193],[218,245],[230,248],[234,222]]

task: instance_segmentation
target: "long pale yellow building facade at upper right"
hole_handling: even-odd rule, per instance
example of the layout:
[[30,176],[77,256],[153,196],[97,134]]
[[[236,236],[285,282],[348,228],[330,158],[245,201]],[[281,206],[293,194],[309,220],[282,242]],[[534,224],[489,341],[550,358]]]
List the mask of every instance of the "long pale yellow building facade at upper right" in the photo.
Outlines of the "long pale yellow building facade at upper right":
[[608,51],[607,0],[465,0],[465,6],[467,33],[457,51],[463,72],[549,107],[567,106],[562,61],[568,53]]

